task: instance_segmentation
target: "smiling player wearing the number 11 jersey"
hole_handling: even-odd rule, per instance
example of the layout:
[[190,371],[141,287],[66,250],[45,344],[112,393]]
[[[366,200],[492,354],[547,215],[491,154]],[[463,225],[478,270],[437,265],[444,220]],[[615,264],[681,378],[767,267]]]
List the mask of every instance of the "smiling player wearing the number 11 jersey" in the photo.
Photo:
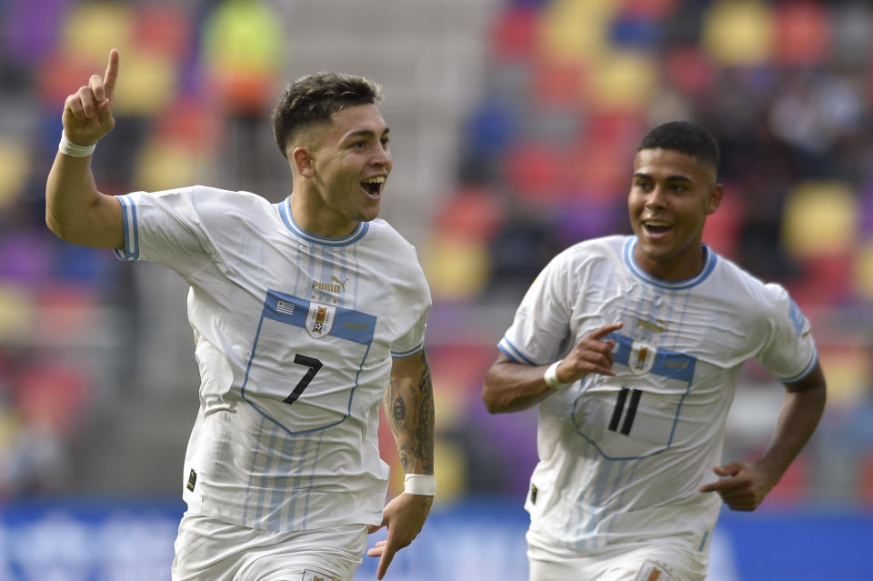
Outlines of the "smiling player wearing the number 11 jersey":
[[[570,246],[537,276],[499,343],[492,413],[539,406],[526,509],[531,581],[691,581],[707,575],[722,501],[754,510],[825,406],[809,323],[701,243],[723,195],[702,128],[660,125],[634,156],[634,235]],[[740,367],[785,385],[768,448],[721,464]]]

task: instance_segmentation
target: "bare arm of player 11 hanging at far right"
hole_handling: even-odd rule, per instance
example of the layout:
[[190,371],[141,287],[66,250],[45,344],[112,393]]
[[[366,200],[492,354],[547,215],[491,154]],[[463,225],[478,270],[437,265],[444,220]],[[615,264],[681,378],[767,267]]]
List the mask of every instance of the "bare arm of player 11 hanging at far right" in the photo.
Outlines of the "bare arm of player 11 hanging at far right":
[[755,510],[760,506],[798,456],[818,426],[825,409],[827,387],[821,367],[806,379],[786,384],[785,399],[767,450],[753,464],[730,462],[715,466],[720,480],[700,487],[700,492],[717,492],[733,510]]

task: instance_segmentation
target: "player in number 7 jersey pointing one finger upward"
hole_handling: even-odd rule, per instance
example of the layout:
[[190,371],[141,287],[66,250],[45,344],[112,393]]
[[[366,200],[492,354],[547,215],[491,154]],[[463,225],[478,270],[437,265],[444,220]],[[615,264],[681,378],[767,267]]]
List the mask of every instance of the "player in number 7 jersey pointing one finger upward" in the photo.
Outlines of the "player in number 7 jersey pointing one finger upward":
[[[115,125],[118,67],[113,50],[66,99],[46,223],[191,285],[200,410],[173,579],[351,579],[367,531],[387,526],[368,552],[381,579],[435,486],[431,299],[414,247],[376,219],[392,164],[378,87],[334,74],[287,86],[273,122],[293,193],[279,204],[201,185],[115,197],[91,155]],[[387,506],[383,399],[406,472]]]

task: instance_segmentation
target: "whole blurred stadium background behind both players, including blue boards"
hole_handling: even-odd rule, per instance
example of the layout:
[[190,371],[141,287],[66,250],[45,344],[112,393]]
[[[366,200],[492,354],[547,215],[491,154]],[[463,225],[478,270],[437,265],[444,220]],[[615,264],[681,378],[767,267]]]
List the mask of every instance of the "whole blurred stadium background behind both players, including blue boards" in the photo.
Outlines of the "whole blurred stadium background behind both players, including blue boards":
[[[389,579],[524,579],[536,412],[479,392],[560,249],[629,233],[649,128],[707,126],[724,202],[705,240],[788,287],[828,409],[712,579],[869,579],[873,546],[873,6],[764,0],[0,0],[0,581],[164,579],[197,408],[186,285],[45,227],[65,96],[121,52],[105,193],[289,194],[269,112],[318,70],[384,87],[382,217],[434,296],[438,505]],[[744,368],[726,459],[766,446],[782,389]],[[386,461],[396,466],[383,430]],[[392,493],[401,486],[393,470]],[[813,540],[815,539],[815,540]],[[373,578],[367,561],[357,578]]]

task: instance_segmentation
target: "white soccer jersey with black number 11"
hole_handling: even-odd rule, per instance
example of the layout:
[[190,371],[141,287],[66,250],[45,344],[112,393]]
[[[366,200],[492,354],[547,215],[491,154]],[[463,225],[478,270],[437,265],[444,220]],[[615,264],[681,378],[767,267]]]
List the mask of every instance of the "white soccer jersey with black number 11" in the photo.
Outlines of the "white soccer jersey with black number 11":
[[531,532],[574,551],[671,537],[707,549],[721,499],[697,488],[721,464],[725,419],[749,358],[779,380],[817,363],[807,319],[705,247],[703,270],[666,282],[633,258],[634,236],[557,255],[527,291],[499,348],[546,365],[597,327],[621,321],[617,376],[590,374],[539,405]]

